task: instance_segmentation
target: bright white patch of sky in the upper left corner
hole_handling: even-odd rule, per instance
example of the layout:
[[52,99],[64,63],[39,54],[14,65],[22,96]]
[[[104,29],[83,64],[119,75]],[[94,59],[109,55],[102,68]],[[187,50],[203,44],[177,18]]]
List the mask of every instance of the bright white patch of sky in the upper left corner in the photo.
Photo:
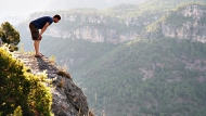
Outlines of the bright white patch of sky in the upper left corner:
[[27,16],[42,10],[52,0],[0,0],[0,18]]

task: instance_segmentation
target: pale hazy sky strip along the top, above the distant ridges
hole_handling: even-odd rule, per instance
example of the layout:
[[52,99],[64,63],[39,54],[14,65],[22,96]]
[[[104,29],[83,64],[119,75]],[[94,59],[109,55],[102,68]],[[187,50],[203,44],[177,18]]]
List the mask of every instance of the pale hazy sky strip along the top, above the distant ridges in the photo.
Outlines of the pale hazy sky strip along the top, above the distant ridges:
[[[49,3],[59,4],[55,8],[72,8],[83,5],[100,5],[101,3],[127,2],[128,0],[0,0],[0,18],[4,16],[27,16],[34,12],[46,10]],[[129,0],[143,1],[143,0]],[[85,3],[85,4],[83,4]]]

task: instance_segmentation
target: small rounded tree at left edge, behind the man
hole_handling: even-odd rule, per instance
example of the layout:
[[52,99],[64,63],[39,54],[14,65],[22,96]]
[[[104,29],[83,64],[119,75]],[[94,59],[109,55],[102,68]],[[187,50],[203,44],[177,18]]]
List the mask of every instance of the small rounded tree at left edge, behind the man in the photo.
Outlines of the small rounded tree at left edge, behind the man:
[[10,44],[10,51],[18,50],[20,33],[9,22],[1,24],[0,38],[4,43]]

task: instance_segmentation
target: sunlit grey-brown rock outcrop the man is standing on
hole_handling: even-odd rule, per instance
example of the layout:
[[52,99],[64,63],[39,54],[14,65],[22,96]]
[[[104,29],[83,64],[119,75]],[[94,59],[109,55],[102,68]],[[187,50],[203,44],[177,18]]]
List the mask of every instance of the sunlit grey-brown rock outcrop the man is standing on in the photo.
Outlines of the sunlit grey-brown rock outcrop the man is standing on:
[[13,53],[14,57],[21,60],[30,67],[34,75],[46,72],[48,79],[52,80],[52,112],[55,116],[88,116],[89,107],[87,98],[77,87],[69,74],[60,69],[54,62],[42,57],[35,57],[31,54]]

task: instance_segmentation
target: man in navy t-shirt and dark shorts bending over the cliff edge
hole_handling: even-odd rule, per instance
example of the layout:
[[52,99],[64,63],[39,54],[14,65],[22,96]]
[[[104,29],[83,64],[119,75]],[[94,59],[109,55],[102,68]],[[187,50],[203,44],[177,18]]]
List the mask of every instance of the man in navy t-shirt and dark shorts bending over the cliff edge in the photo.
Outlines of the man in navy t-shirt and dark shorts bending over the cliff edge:
[[[51,25],[53,22],[57,23],[60,20],[61,20],[61,16],[56,14],[53,17],[42,16],[30,22],[29,28],[30,28],[31,38],[34,40],[36,57],[42,56],[42,54],[39,52],[39,44],[42,38],[42,34],[44,33],[44,30],[48,28],[49,25]],[[40,33],[39,33],[39,29],[41,29]]]

